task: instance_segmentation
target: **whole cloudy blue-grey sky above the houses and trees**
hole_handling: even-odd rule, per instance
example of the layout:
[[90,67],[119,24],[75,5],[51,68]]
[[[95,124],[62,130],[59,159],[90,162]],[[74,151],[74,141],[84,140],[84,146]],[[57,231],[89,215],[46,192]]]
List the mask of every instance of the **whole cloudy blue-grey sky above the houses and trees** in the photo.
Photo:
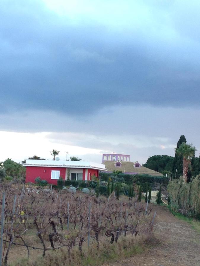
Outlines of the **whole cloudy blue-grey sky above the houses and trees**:
[[200,1],[1,0],[0,161],[200,152]]

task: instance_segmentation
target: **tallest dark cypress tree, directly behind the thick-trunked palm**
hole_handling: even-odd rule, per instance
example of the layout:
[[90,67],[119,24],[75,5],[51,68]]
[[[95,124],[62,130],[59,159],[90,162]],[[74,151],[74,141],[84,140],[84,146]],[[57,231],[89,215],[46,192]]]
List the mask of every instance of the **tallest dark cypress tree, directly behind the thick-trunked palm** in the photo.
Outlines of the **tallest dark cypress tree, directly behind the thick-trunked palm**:
[[[181,135],[178,142],[177,142],[177,148],[183,143],[187,142],[184,135]],[[177,170],[177,171],[176,171]],[[183,174],[183,156],[178,155],[177,152],[175,152],[174,161],[172,164],[172,176],[173,178],[179,178]]]

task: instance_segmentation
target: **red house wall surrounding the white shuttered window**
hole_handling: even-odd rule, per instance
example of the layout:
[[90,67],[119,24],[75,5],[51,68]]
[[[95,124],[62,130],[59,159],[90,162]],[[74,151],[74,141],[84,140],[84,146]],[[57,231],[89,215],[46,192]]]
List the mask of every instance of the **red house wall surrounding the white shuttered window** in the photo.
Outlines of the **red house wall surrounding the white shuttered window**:
[[62,167],[45,167],[45,166],[26,166],[26,183],[35,183],[36,177],[47,180],[49,184],[57,185],[57,179],[51,179],[51,171],[60,171],[60,176],[65,180],[66,168]]

